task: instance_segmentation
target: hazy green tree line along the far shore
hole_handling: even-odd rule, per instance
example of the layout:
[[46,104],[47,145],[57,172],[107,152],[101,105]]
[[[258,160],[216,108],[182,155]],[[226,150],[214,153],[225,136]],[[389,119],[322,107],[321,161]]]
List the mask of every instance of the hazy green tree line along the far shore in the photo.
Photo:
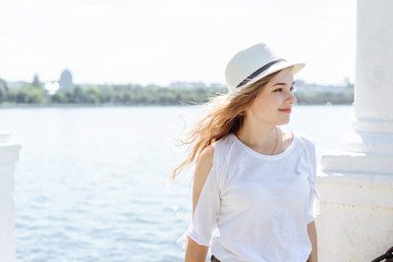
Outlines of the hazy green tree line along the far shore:
[[[22,84],[18,90],[10,90],[7,82],[0,80],[0,104],[113,104],[113,105],[188,105],[203,104],[209,98],[227,93],[226,88],[172,88],[158,85],[113,84],[113,85],[76,85],[67,92],[49,95],[38,76],[31,83]],[[354,93],[335,94],[332,92],[296,92],[298,104],[302,105],[348,105],[354,100]]]

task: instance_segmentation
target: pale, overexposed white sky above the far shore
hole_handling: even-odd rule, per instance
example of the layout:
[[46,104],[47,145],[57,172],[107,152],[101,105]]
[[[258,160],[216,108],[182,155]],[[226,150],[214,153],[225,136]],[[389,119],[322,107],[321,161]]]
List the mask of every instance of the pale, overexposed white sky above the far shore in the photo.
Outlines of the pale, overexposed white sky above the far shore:
[[223,83],[241,49],[264,41],[305,62],[296,79],[355,82],[356,0],[1,0],[0,78]]

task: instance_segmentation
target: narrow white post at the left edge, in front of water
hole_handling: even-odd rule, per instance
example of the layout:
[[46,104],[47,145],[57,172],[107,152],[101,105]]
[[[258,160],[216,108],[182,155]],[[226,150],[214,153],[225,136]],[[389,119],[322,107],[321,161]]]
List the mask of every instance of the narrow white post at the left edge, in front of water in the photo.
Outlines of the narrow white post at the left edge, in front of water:
[[9,138],[0,132],[0,261],[14,262],[14,163],[21,146],[10,143]]

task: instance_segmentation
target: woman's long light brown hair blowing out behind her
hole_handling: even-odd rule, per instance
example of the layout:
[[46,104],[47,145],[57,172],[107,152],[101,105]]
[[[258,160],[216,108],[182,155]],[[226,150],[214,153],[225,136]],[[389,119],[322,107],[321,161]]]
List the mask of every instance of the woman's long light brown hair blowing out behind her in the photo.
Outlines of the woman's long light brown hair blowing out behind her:
[[229,133],[236,133],[243,124],[246,110],[266,84],[278,73],[269,74],[245,87],[238,87],[234,92],[210,99],[206,106],[205,116],[195,128],[181,141],[181,145],[188,145],[187,158],[173,170],[175,179],[182,170],[197,160],[203,150]]

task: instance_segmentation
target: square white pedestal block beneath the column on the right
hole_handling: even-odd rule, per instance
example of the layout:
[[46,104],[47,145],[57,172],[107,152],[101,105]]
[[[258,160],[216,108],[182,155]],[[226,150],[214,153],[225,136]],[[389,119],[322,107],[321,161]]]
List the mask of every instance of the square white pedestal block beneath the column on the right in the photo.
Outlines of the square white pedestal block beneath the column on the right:
[[319,261],[371,261],[393,245],[393,176],[317,171]]

